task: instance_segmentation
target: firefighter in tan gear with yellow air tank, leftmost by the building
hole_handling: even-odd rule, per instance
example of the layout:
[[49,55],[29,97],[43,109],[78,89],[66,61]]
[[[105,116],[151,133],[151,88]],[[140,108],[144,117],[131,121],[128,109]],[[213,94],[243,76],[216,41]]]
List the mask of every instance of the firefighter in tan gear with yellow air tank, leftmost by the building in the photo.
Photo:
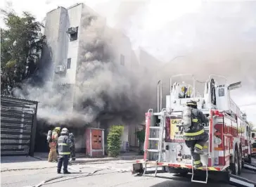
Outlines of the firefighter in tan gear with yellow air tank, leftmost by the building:
[[55,127],[51,134],[49,134],[49,156],[48,156],[48,162],[56,162],[58,155],[56,151],[57,142],[58,142],[58,135],[60,133],[60,127]]

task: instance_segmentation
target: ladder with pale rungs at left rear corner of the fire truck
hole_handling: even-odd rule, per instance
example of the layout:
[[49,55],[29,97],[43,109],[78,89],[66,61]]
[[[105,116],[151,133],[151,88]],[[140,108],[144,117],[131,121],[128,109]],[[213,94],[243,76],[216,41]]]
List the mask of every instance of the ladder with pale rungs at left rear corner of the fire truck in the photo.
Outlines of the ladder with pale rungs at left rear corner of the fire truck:
[[[149,112],[153,112],[153,109],[149,109],[148,113]],[[158,160],[155,160],[155,176],[158,173],[158,162],[160,162],[161,157],[162,157],[162,141],[163,141],[163,132],[164,132],[164,129],[165,129],[165,115],[164,115],[164,112],[165,112],[165,108],[163,108],[160,112],[161,115],[160,115],[160,126],[159,127],[153,127],[153,126],[150,126],[150,124],[148,125],[148,127],[146,127],[146,134],[148,133],[149,136],[151,134],[150,133],[151,129],[160,130],[158,137],[151,138],[149,136],[146,136],[146,137],[148,137],[148,139],[146,138],[146,140],[145,140],[145,141],[148,141],[148,143],[150,141],[158,141],[158,149],[148,149],[148,146],[144,147],[144,153],[149,153],[149,152],[158,153]],[[147,166],[147,160],[145,160],[145,169],[144,169],[143,175],[146,174],[146,169],[147,169],[146,166]]]

